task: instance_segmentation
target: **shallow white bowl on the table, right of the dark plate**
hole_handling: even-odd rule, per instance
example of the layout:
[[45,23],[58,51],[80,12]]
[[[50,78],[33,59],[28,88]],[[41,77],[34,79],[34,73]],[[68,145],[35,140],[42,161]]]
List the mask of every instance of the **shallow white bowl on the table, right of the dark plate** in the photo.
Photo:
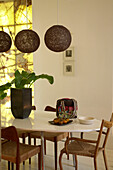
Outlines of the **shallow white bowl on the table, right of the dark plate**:
[[83,117],[82,116],[82,117],[79,117],[78,120],[82,124],[90,125],[90,124],[94,123],[95,118],[94,117]]

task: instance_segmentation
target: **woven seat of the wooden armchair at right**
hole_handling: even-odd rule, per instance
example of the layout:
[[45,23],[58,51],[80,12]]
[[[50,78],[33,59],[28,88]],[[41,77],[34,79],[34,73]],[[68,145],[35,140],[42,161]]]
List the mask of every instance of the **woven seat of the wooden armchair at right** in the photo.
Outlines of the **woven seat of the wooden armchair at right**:
[[[96,146],[82,141],[73,141],[67,146],[69,154],[94,157]],[[101,148],[99,148],[101,150]],[[62,150],[65,152],[65,148]]]

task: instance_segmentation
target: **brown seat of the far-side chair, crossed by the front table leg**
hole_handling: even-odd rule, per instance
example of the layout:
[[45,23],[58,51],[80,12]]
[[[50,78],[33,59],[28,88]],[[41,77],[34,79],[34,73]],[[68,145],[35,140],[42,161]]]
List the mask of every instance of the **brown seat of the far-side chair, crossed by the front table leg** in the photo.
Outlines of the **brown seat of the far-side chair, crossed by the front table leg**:
[[[68,133],[65,132],[65,133],[53,133],[53,132],[44,132],[44,138],[46,140],[49,140],[49,141],[60,141],[62,140],[63,138],[66,138],[68,136]],[[41,134],[40,132],[33,132],[33,133],[30,133],[30,137],[31,138],[41,138]]]

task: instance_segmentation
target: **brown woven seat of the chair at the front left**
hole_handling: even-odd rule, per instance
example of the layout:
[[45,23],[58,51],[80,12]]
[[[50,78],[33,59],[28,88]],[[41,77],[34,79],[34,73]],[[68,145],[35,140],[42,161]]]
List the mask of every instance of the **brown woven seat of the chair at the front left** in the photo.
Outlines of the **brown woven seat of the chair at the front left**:
[[[40,152],[40,146],[19,144],[20,163]],[[2,159],[16,163],[16,142],[6,142],[2,144]]]

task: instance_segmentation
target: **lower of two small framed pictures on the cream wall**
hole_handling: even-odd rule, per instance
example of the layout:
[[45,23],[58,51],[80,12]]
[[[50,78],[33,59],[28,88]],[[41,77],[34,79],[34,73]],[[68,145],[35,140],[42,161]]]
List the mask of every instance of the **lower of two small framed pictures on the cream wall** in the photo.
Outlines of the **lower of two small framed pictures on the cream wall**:
[[66,76],[74,76],[75,68],[73,61],[66,61],[63,65],[63,74]]

